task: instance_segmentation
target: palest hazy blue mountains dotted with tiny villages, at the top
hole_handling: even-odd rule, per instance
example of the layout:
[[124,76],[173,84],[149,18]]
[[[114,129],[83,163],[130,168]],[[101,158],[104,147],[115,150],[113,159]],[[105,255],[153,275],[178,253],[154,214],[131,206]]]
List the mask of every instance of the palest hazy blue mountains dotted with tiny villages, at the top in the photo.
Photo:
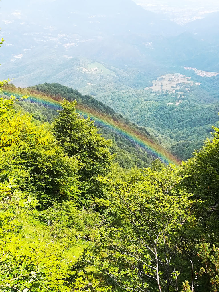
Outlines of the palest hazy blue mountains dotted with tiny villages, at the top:
[[18,86],[63,83],[67,72],[59,79],[57,74],[84,58],[127,73],[132,68],[159,75],[181,66],[219,70],[219,57],[212,60],[218,14],[182,27],[131,0],[2,0],[0,13],[6,39],[0,78],[15,78]]

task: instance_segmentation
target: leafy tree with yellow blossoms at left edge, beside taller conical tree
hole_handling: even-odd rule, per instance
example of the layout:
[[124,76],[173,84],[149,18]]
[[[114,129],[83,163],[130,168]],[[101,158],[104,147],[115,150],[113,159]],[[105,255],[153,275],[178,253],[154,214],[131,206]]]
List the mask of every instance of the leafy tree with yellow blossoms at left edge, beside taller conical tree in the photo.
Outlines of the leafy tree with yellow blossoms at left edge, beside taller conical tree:
[[77,172],[81,164],[69,158],[46,131],[27,114],[15,113],[13,100],[1,99],[0,179],[17,178],[19,188],[34,194],[41,206],[77,197]]

